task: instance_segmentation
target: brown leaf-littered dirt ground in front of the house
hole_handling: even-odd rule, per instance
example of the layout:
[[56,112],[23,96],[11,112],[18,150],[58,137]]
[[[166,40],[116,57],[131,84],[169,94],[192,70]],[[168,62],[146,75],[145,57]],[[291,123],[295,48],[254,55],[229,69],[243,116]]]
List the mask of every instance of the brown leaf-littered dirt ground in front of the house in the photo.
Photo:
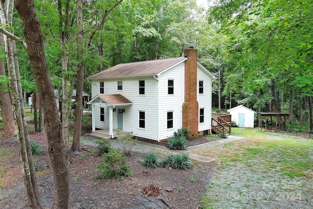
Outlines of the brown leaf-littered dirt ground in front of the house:
[[[34,162],[44,206],[50,208],[53,198],[53,178],[46,151],[46,135],[30,132],[30,139],[44,147],[44,154],[34,156]],[[203,142],[208,141],[205,138],[192,139],[189,146]],[[96,174],[94,165],[101,163],[102,158],[89,154],[90,150],[95,151],[97,147],[84,144],[82,147],[84,149],[80,155],[69,156],[70,209],[201,208],[201,197],[207,190],[213,172],[210,163],[193,161],[194,167],[189,170],[147,168],[138,162],[144,153],[132,151],[127,160],[131,165],[130,177],[97,180],[94,178]],[[27,199],[16,137],[1,137],[0,149],[13,153],[9,159],[0,156],[0,208],[26,209]]]

